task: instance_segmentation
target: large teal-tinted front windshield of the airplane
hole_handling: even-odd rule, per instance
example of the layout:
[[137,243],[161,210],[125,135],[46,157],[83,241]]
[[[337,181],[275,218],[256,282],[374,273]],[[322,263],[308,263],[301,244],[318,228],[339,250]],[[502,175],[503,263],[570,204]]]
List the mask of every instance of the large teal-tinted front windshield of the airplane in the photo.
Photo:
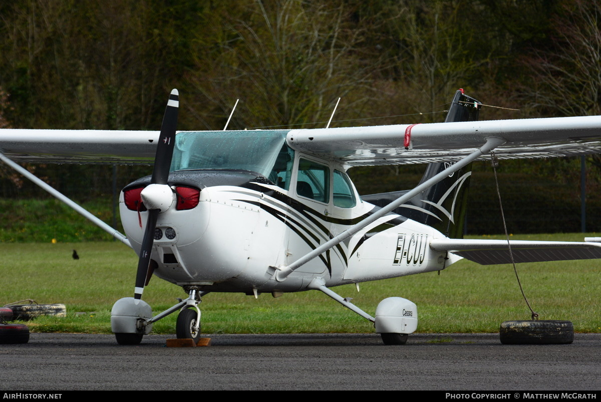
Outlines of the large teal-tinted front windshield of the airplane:
[[250,170],[269,177],[285,130],[184,131],[175,136],[171,172],[187,169]]

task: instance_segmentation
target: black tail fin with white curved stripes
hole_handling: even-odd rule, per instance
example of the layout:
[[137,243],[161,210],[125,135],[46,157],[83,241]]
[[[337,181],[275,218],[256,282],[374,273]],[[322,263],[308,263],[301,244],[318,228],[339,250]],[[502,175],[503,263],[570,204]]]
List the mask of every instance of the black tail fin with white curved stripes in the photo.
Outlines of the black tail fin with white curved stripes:
[[[478,120],[480,104],[474,98],[463,94],[463,90],[460,89],[455,93],[445,122]],[[430,163],[420,183],[437,175],[449,165],[450,163]],[[399,206],[394,213],[427,224],[450,238],[463,238],[471,175],[472,164],[469,164]],[[381,207],[388,205],[407,191],[409,190],[370,194],[361,198]]]

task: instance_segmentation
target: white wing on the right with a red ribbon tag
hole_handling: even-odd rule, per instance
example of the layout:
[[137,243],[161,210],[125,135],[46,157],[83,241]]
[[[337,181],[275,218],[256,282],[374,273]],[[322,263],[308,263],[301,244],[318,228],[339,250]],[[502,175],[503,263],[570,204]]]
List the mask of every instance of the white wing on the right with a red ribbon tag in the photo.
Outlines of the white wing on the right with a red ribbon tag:
[[593,154],[601,152],[601,116],[292,130],[288,144],[347,166],[370,166],[456,161],[487,137],[506,141],[495,149],[499,158]]

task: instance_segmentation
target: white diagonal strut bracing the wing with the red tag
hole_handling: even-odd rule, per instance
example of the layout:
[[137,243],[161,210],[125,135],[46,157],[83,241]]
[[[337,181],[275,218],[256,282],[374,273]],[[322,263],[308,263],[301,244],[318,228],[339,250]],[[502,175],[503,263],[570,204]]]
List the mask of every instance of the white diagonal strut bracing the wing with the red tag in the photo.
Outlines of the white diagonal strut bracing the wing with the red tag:
[[379,218],[381,218],[384,215],[391,212],[393,209],[397,208],[398,206],[400,206],[403,203],[407,202],[408,200],[412,199],[417,194],[421,193],[422,191],[426,190],[429,187],[432,187],[433,185],[435,185],[436,183],[438,183],[439,181],[441,181],[448,175],[451,175],[452,173],[457,172],[457,170],[461,169],[463,166],[466,166],[467,164],[471,163],[472,161],[476,160],[477,158],[481,157],[484,154],[488,154],[490,151],[495,149],[497,146],[503,145],[504,143],[505,143],[505,140],[502,138],[487,137],[486,143],[483,146],[481,146],[480,148],[478,148],[476,151],[472,152],[471,154],[469,154],[462,160],[457,161],[457,163],[454,163],[447,169],[442,170],[442,172],[438,173],[438,175],[433,176],[429,180],[427,180],[427,181],[423,182],[422,184],[418,185],[417,187],[413,188],[413,190],[403,194],[403,196],[398,197],[397,200],[389,203],[388,205],[386,205],[385,207],[383,207],[382,209],[377,211],[375,214],[370,215],[369,217],[365,218],[361,222],[355,224],[354,226],[349,227],[349,229],[340,233],[340,235],[335,236],[328,242],[325,242],[324,244],[320,245],[319,247],[317,247],[315,250],[311,251],[310,253],[305,254],[304,256],[297,259],[290,265],[287,265],[287,266],[280,265],[275,274],[276,280],[278,280],[278,281],[285,280],[285,278],[287,278],[288,275],[290,275],[292,272],[294,272],[294,270],[296,270],[297,268],[301,267],[302,265],[305,265],[306,263],[310,262],[315,257],[322,254],[324,251],[329,250],[330,248],[334,247],[335,245],[339,244],[340,242],[343,242],[345,239],[347,239],[350,236],[354,235],[355,233],[359,232],[359,230],[363,229],[368,224],[378,220]]

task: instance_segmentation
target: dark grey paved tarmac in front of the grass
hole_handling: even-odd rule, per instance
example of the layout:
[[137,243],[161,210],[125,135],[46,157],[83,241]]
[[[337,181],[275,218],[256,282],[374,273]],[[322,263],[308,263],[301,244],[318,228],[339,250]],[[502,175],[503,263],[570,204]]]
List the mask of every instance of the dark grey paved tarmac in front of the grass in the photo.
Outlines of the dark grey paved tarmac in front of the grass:
[[31,334],[0,345],[0,389],[601,389],[601,334],[569,345],[413,334],[404,346],[376,334],[205,336],[212,346],[168,348],[169,335],[119,346],[112,335]]

